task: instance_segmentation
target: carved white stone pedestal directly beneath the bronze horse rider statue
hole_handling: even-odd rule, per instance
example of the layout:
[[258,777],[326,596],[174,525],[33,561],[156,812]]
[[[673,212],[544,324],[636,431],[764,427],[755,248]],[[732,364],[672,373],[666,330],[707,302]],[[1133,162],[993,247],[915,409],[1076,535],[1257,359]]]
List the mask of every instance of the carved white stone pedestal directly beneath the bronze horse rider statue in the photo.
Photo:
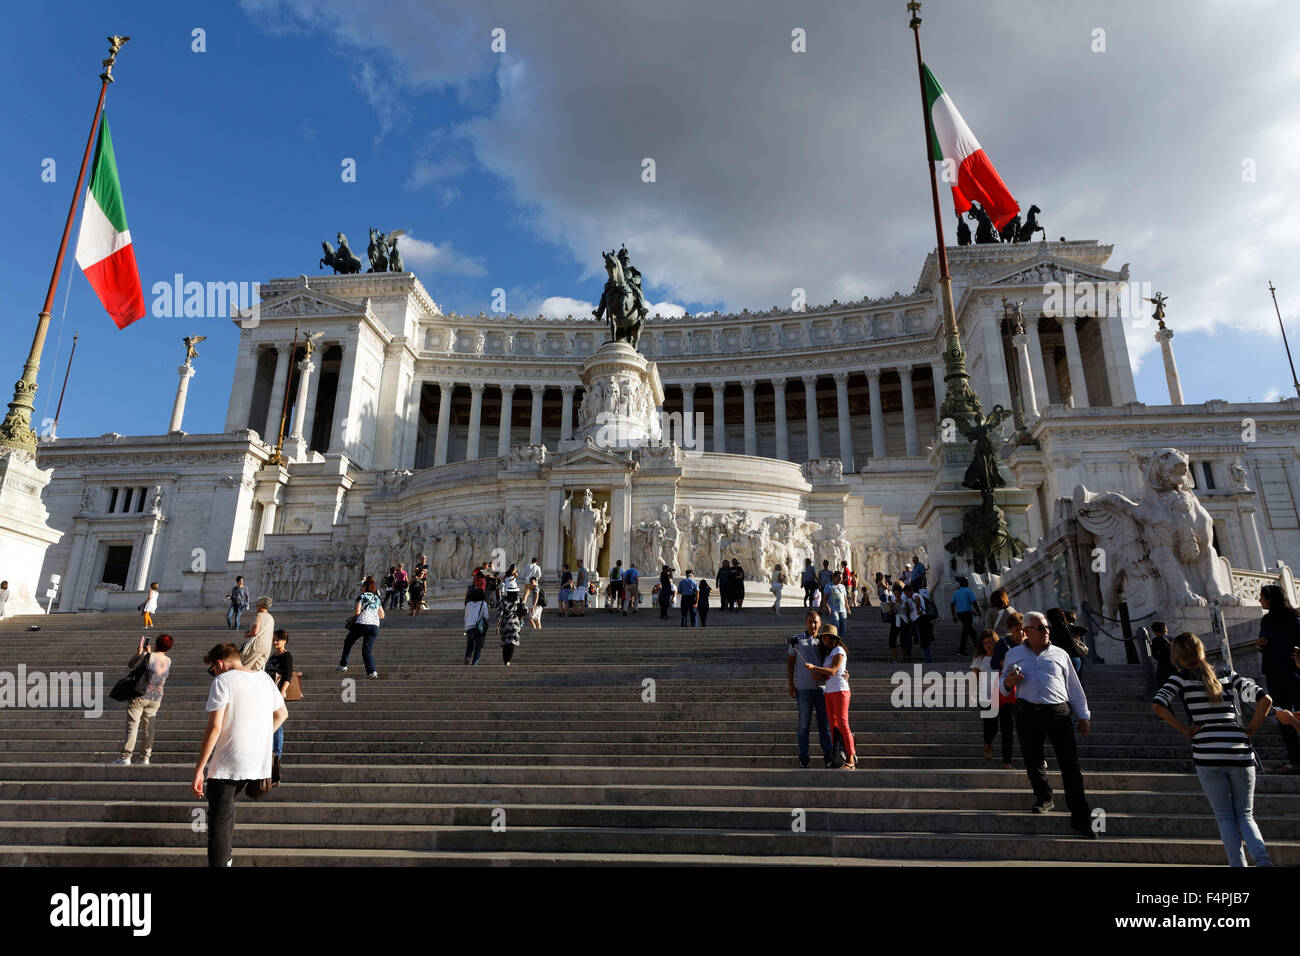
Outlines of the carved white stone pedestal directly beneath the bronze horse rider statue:
[[581,367],[582,405],[575,438],[607,451],[660,441],[659,369],[627,342],[606,342]]

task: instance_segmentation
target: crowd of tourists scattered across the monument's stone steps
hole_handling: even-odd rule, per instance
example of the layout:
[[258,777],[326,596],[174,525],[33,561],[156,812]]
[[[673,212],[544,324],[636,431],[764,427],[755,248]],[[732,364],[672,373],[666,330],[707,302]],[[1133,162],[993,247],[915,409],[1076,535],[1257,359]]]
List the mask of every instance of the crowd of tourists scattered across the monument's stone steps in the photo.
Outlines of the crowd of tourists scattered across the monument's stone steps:
[[[368,576],[352,602],[347,633],[337,670],[346,672],[352,648],[361,643],[367,676],[378,679],[376,643],[385,607],[408,607],[412,614],[425,607],[428,566],[424,555],[412,572],[396,564],[376,583]],[[679,610],[681,627],[706,627],[712,596],[723,611],[740,613],[745,605],[746,571],[740,561],[723,562],[714,580],[697,578],[692,568],[679,576],[663,566],[658,583],[649,592],[641,587],[634,563],[625,568],[615,561],[608,579],[585,567],[562,567],[558,579],[555,613],[582,617],[603,598],[608,614],[638,613],[644,601],[658,604],[660,619]],[[777,566],[770,578],[774,594],[771,610],[780,613],[781,594],[789,578]],[[979,688],[983,756],[993,760],[1000,744],[1001,766],[1014,769],[1015,741],[1019,743],[1028,786],[1034,792],[1030,810],[1049,813],[1056,808],[1048,779],[1046,744],[1050,743],[1065,791],[1070,827],[1080,836],[1095,839],[1095,826],[1083,773],[1076,734],[1092,730],[1092,714],[1080,675],[1088,646],[1086,628],[1069,610],[1020,613],[1011,607],[1005,591],[993,591],[980,601],[965,578],[949,601],[949,617],[959,626],[958,658],[970,653],[972,685]],[[832,568],[829,561],[816,567],[811,559],[800,571],[803,591],[803,628],[788,639],[786,684],[797,704],[796,743],[798,765],[810,766],[809,737],[812,719],[827,767],[853,770],[858,753],[849,726],[849,619],[853,609],[872,606],[872,592],[880,614],[881,635],[887,635],[889,659],[910,662],[918,648],[926,663],[933,661],[935,622],[940,618],[927,587],[927,570],[916,558],[897,575],[876,574],[874,588],[862,585],[846,562]],[[861,588],[861,593],[857,593]],[[534,557],[523,570],[511,564],[503,572],[484,562],[473,568],[464,593],[464,663],[478,665],[486,635],[494,630],[502,649],[502,662],[511,666],[526,626],[541,630],[547,607],[542,568]],[[1258,758],[1252,737],[1270,717],[1280,730],[1288,762],[1273,773],[1300,774],[1300,717],[1292,713],[1300,698],[1300,617],[1280,587],[1261,592],[1265,610],[1260,628],[1264,680],[1268,691],[1231,669],[1214,669],[1206,661],[1200,639],[1191,633],[1170,637],[1165,626],[1152,627],[1152,658],[1158,689],[1152,708],[1157,717],[1191,740],[1191,760],[1201,788],[1218,823],[1227,860],[1245,865],[1245,853],[1257,866],[1270,865],[1268,848],[1253,817],[1253,795]],[[209,804],[209,865],[230,865],[234,834],[234,797],[244,792],[264,796],[280,782],[283,754],[286,700],[302,696],[300,674],[294,670],[287,649],[289,635],[276,628],[272,600],[259,597],[252,623],[239,644],[224,643],[205,657],[213,678],[208,696],[208,726],[195,765],[194,791]],[[226,626],[238,631],[250,607],[243,578],[229,594]],[[147,627],[159,610],[157,588],[150,589],[140,606]],[[135,692],[127,698],[126,739],[114,763],[133,762],[136,741],[140,754],[135,763],[150,763],[155,724],[172,667],[169,652],[174,641],[161,633],[152,641],[140,637],[127,662]],[[1249,714],[1247,705],[1253,705]],[[1182,715],[1175,710],[1180,708]],[[1243,844],[1245,852],[1243,852]]]

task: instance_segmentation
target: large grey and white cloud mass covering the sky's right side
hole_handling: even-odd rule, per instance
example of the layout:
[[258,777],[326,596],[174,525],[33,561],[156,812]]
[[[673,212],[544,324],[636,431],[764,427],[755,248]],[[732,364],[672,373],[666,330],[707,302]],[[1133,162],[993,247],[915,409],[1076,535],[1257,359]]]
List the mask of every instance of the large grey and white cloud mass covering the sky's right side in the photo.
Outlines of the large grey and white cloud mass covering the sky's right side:
[[[550,5],[504,0],[244,8],[365,56],[358,82],[381,125],[404,121],[384,98],[410,91],[472,103],[455,133],[467,161],[507,183],[584,280],[627,242],[651,294],[767,310],[794,287],[810,304],[906,291],[933,247],[911,36],[892,8],[802,8],[806,53],[779,0],[607,0],[568,9],[563,30]],[[1130,261],[1169,294],[1175,330],[1275,323],[1266,282],[1294,271],[1284,211],[1300,206],[1300,113],[1278,109],[1300,96],[1300,4],[1261,4],[1264,31],[1208,0],[1176,17],[1108,5],[1105,53],[1091,51],[1092,4],[927,8],[927,60],[1050,239],[1114,243],[1112,268]],[[507,55],[490,52],[495,26]],[[992,48],[1015,51],[1014,69],[976,69],[970,51]],[[645,157],[656,182],[641,181]],[[416,163],[408,182],[454,187],[445,161]],[[1126,326],[1140,364],[1150,328]]]

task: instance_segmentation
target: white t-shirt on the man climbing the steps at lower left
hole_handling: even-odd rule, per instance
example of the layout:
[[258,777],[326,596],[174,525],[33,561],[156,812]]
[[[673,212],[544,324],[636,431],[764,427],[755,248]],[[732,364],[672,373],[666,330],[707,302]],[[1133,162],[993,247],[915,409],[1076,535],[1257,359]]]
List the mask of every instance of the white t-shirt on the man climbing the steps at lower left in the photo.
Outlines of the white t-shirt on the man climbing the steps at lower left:
[[276,711],[285,697],[266,671],[225,671],[208,691],[208,713],[226,709],[208,762],[216,780],[264,780],[270,777]]

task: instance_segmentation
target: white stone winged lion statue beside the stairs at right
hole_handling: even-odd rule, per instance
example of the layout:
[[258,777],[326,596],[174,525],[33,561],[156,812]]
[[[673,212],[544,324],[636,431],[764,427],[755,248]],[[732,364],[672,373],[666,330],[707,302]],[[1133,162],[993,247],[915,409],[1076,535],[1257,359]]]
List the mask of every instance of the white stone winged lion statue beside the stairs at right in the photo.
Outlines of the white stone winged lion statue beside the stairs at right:
[[1236,605],[1231,581],[1214,551],[1213,520],[1192,494],[1187,455],[1158,449],[1143,457],[1140,502],[1123,494],[1074,489],[1074,514],[1097,540],[1101,592],[1114,611],[1121,594],[1140,617],[1209,602]]

